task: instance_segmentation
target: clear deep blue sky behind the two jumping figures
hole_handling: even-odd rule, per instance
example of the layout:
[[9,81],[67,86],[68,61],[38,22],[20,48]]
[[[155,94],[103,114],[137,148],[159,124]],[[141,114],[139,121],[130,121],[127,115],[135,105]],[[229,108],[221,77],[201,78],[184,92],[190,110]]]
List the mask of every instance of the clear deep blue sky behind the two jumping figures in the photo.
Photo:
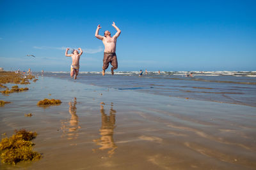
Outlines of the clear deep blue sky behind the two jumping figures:
[[256,1],[0,0],[0,7],[5,70],[69,71],[65,48],[81,47],[80,71],[101,71],[95,30],[100,24],[99,34],[113,35],[115,22],[117,71],[256,71]]

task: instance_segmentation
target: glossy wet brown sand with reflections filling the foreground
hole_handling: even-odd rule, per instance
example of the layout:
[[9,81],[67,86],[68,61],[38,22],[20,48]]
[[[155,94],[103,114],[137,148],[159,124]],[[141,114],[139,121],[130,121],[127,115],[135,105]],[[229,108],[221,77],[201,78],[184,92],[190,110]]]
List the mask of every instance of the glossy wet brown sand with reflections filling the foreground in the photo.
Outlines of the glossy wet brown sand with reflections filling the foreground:
[[[36,131],[43,158],[1,169],[256,168],[255,107],[49,77],[24,87],[28,92],[0,96],[12,102],[0,108],[0,132]],[[62,103],[38,107],[44,98]]]

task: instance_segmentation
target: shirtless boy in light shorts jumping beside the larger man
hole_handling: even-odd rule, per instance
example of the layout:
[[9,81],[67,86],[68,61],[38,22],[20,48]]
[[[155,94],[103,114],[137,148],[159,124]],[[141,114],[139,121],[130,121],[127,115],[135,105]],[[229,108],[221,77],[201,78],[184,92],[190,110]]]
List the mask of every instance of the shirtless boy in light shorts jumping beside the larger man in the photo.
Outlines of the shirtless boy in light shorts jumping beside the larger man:
[[82,55],[83,51],[81,48],[78,48],[78,50],[80,50],[80,53],[78,53],[77,50],[74,50],[72,52],[72,54],[68,54],[68,50],[69,50],[69,48],[66,49],[65,55],[67,57],[72,57],[70,76],[71,76],[71,78],[73,78],[73,76],[75,74],[74,79],[76,80],[78,72],[79,72],[79,60],[80,60],[80,56]]

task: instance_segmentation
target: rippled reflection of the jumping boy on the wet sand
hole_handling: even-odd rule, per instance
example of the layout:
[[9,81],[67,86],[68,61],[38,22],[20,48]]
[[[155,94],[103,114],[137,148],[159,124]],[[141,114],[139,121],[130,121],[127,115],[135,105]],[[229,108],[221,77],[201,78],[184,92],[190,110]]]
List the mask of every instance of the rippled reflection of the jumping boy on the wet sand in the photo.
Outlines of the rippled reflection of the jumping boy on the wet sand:
[[76,100],[76,97],[74,97],[74,101],[71,101],[68,103],[69,105],[68,112],[70,113],[71,117],[67,121],[61,122],[62,124],[61,129],[63,131],[63,136],[67,135],[68,140],[76,139],[78,136],[77,129],[81,128],[78,125],[78,117],[76,115],[76,110],[77,110],[76,104],[77,104],[77,100]]

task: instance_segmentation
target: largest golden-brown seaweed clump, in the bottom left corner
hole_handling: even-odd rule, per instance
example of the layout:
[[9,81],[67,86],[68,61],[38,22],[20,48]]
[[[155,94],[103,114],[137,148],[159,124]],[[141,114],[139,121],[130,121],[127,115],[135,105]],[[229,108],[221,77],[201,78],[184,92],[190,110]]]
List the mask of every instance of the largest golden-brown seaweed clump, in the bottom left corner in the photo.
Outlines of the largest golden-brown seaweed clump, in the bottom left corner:
[[42,155],[33,151],[36,132],[28,132],[25,129],[15,130],[10,138],[3,138],[0,142],[1,161],[8,164],[17,164],[20,161],[39,160]]

